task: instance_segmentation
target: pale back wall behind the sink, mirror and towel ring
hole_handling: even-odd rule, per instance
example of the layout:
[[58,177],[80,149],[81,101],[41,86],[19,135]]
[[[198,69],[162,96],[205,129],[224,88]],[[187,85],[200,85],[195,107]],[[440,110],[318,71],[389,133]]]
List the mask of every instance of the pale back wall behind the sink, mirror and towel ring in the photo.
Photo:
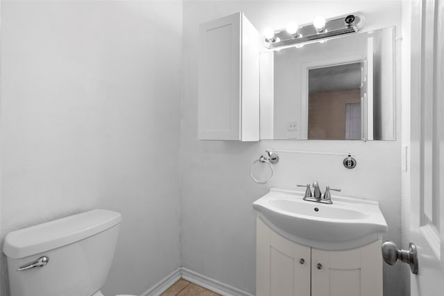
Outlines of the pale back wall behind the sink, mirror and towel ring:
[[[399,99],[398,141],[198,141],[198,24],[237,11],[245,12],[259,32],[266,26],[284,28],[293,17],[299,24],[305,24],[318,14],[332,17],[361,11],[366,15],[366,31],[398,26],[399,35],[401,20],[400,1],[185,1],[180,141],[182,265],[254,294],[255,212],[251,203],[271,187],[296,189],[297,183],[314,180],[323,186],[342,188],[342,195],[379,201],[388,223],[384,240],[399,244]],[[399,75],[399,58],[396,62]],[[358,166],[354,170],[345,169],[342,157],[280,153],[273,180],[266,185],[255,184],[250,180],[250,164],[269,148],[350,151],[357,155]],[[384,265],[385,295],[404,295],[400,269],[400,265]]]

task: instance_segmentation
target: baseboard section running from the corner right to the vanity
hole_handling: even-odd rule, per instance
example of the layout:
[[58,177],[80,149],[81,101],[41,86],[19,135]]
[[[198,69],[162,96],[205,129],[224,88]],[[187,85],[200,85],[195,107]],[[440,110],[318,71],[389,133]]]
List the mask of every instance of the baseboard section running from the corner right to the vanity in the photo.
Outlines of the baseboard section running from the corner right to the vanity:
[[207,288],[208,290],[212,290],[213,292],[223,296],[253,296],[252,294],[246,293],[243,290],[223,284],[220,281],[216,281],[216,279],[212,279],[211,277],[200,275],[200,273],[194,272],[187,268],[180,268],[180,272],[183,279],[191,281],[191,283],[199,285],[203,288]]

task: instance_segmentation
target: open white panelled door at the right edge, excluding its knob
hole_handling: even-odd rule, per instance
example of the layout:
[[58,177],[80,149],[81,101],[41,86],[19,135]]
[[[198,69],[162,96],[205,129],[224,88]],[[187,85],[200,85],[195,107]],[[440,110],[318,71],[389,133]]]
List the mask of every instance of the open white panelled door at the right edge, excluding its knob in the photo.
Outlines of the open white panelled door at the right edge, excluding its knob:
[[418,250],[412,296],[444,290],[444,1],[411,7],[410,241]]

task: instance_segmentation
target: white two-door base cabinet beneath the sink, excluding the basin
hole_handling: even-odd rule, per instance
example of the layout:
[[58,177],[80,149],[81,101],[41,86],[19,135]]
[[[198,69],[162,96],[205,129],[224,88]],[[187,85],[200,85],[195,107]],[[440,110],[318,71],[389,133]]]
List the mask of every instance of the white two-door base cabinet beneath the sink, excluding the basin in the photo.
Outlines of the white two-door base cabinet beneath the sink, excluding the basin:
[[280,236],[257,218],[257,296],[382,296],[381,241],[316,250]]

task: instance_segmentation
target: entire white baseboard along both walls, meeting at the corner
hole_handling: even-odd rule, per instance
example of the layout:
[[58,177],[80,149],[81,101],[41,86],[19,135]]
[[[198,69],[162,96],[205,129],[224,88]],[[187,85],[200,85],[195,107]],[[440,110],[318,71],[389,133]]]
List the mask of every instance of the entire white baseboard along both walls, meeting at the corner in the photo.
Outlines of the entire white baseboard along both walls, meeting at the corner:
[[208,290],[212,290],[213,292],[223,296],[254,296],[250,293],[244,292],[243,290],[223,284],[220,281],[216,281],[216,279],[212,279],[211,277],[207,277],[205,275],[200,275],[200,273],[183,267],[174,270],[170,275],[159,281],[141,296],[159,296],[181,277],[187,281],[191,281],[191,283],[199,285],[203,288],[207,288]]

